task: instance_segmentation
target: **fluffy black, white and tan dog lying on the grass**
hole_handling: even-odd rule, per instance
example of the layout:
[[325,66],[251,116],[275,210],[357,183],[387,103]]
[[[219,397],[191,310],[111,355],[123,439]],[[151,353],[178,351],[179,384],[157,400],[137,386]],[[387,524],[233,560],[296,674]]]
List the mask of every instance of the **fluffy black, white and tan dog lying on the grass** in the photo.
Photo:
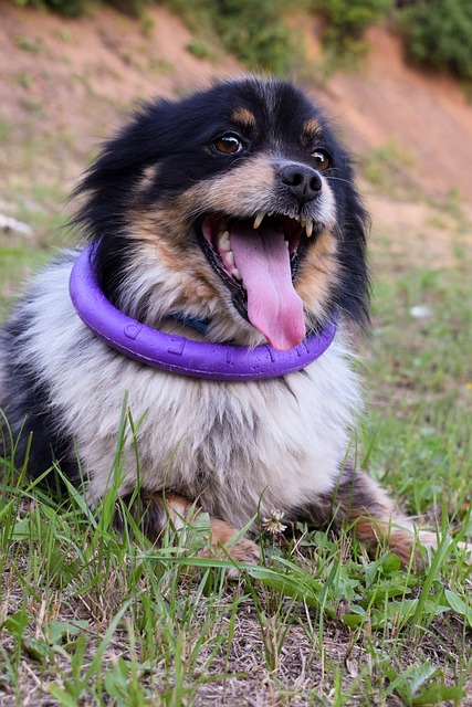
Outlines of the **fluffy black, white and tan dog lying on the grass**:
[[[1,333],[17,462],[28,447],[33,477],[57,463],[98,505],[126,399],[138,424],[118,494],[153,542],[204,511],[210,548],[256,562],[251,528],[275,515],[346,524],[409,562],[412,523],[348,455],[363,407],[349,336],[368,324],[369,218],[321,108],[292,83],[253,76],[147,103],[75,196],[86,256],[77,249],[43,270]],[[126,336],[158,333],[170,357],[195,346],[210,368],[227,356],[223,376],[138,360],[133,334],[130,355],[111,342],[70,294],[81,257]],[[93,317],[92,291],[82,294]],[[240,355],[242,373],[224,378]],[[269,361],[262,377],[244,369],[254,356]],[[281,372],[287,359],[296,365]]]

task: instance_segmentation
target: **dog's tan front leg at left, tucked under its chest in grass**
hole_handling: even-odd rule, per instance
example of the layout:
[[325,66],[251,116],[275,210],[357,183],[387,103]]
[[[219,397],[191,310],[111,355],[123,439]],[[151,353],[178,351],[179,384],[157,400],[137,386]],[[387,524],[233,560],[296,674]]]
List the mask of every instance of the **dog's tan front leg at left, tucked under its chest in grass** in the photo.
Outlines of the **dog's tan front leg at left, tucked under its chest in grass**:
[[[129,498],[123,499],[125,505]],[[141,531],[151,542],[159,542],[166,529],[174,532],[195,523],[201,509],[181,496],[141,492],[129,508]],[[118,509],[115,525],[123,529],[123,517]],[[242,537],[237,540],[238,528],[224,520],[210,516],[208,534],[209,547],[199,552],[199,557],[218,556],[231,558],[237,562],[254,564],[260,557],[259,547],[252,540]]]

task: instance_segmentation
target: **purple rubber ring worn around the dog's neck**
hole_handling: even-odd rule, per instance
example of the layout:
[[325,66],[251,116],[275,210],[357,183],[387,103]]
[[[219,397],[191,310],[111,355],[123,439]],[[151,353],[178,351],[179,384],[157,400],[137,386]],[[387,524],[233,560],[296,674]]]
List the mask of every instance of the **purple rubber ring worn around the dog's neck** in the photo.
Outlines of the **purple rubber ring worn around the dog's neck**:
[[96,336],[112,348],[147,366],[211,380],[261,380],[297,371],[319,358],[336,334],[328,323],[321,334],[311,334],[289,351],[269,344],[243,346],[207,344],[165,334],[126,316],[105,297],[94,268],[95,244],[88,245],[72,268],[72,303]]

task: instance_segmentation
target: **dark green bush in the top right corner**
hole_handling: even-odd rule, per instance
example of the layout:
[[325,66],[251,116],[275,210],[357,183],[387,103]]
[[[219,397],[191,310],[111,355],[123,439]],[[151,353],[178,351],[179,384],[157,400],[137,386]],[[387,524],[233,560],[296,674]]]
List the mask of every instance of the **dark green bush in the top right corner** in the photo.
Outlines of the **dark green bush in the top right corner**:
[[472,2],[420,0],[398,11],[410,57],[472,80]]

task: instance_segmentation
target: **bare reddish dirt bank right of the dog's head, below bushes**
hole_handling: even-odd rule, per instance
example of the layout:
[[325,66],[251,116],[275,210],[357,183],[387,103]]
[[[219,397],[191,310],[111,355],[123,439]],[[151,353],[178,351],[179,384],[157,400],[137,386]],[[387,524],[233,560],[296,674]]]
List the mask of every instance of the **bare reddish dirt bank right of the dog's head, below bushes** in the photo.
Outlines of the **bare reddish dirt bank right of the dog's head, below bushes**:
[[472,105],[460,86],[407,66],[399,40],[385,30],[373,28],[368,40],[364,68],[334,76],[327,95],[355,149],[394,143],[422,189],[441,194],[455,187],[472,199]]

